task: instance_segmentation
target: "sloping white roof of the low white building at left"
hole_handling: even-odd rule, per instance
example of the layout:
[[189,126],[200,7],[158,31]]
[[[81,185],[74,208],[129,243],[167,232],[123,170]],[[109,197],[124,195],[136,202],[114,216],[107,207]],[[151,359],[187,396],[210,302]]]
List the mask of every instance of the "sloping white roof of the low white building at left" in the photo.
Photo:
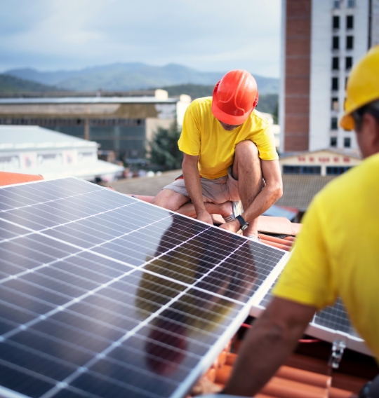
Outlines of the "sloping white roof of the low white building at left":
[[73,147],[96,148],[97,144],[36,125],[0,125],[0,151]]

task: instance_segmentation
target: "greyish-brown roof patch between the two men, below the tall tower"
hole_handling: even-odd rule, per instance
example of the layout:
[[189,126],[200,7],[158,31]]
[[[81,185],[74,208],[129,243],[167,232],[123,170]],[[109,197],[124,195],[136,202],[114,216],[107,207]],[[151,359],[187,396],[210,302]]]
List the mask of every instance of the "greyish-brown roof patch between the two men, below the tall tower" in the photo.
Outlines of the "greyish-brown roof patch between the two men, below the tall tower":
[[334,176],[284,174],[283,196],[275,203],[278,206],[307,210],[314,195],[321,191]]

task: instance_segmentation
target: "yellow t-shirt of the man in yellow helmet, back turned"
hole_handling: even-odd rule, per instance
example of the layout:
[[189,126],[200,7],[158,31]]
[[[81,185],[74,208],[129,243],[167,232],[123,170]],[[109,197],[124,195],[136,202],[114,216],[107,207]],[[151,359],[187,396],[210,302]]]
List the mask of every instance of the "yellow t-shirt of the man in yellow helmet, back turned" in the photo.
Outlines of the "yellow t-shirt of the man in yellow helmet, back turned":
[[274,295],[318,309],[336,296],[379,360],[379,154],[314,198]]

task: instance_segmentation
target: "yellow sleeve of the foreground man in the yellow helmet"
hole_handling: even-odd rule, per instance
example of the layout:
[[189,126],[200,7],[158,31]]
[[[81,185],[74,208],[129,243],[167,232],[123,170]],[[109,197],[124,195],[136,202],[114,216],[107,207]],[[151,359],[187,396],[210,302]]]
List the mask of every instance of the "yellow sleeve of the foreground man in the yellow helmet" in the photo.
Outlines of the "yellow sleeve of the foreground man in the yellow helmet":
[[318,309],[332,304],[337,296],[323,235],[327,220],[322,219],[321,210],[317,197],[305,214],[291,258],[273,291],[274,296]]

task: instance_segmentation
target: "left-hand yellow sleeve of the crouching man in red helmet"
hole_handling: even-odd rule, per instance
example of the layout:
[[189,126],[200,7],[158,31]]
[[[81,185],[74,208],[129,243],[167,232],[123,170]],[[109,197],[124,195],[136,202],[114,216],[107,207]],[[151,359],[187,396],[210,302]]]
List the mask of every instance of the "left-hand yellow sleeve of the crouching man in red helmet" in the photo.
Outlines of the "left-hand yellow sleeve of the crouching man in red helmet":
[[191,109],[185,112],[182,133],[178,141],[180,151],[187,153],[187,155],[199,156],[201,148],[201,127],[200,123]]

